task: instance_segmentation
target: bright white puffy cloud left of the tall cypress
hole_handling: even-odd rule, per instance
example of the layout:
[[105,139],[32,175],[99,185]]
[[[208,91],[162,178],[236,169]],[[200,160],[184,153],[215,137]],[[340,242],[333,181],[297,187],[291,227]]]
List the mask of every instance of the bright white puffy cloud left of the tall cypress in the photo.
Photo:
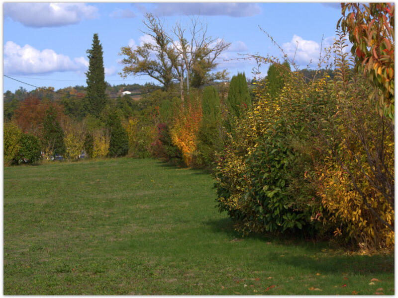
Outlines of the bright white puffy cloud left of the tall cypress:
[[51,49],[39,51],[26,44],[23,47],[12,41],[4,46],[5,74],[45,74],[87,70],[89,62],[84,57],[71,59]]

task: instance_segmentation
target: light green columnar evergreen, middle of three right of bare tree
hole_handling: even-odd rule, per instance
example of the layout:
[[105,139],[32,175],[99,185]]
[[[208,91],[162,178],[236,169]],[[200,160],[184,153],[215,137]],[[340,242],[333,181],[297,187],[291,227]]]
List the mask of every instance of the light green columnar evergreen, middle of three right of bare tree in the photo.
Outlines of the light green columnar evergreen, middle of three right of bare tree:
[[229,83],[227,98],[228,111],[231,116],[239,117],[242,110],[251,105],[245,74],[234,75]]

